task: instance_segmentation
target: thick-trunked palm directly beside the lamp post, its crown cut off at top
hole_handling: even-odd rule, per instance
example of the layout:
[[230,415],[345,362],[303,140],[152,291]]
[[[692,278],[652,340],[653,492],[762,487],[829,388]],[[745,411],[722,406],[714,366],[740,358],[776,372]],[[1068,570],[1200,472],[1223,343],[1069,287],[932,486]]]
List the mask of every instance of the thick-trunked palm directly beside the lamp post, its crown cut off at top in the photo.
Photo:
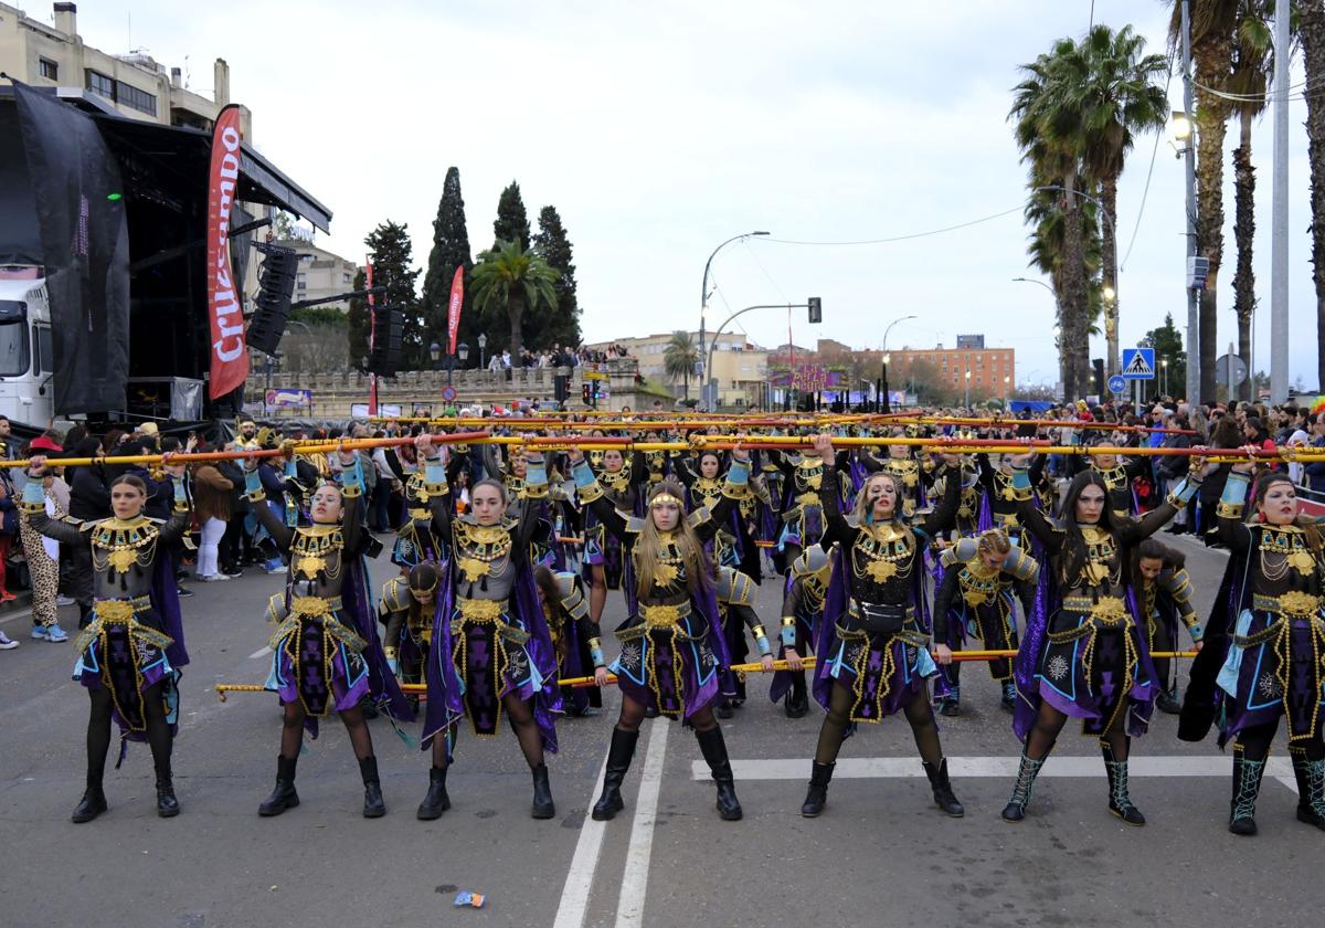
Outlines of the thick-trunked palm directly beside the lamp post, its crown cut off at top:
[[[1232,74],[1238,7],[1243,0],[1191,0],[1191,57],[1195,62],[1196,95],[1196,249],[1210,261],[1210,277],[1200,292],[1200,396],[1215,395],[1215,349],[1219,345],[1219,264],[1224,256],[1224,135],[1231,102],[1227,93]],[[1169,38],[1182,41],[1182,3],[1174,0]]]

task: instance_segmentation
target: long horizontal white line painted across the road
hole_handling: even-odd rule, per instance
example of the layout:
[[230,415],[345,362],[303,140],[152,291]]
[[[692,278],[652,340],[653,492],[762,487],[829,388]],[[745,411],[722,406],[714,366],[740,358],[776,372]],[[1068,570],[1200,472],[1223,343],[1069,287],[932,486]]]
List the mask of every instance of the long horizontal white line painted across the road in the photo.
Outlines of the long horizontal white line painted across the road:
[[[1019,757],[949,757],[947,768],[954,778],[995,777],[1011,780],[1016,776]],[[810,758],[770,758],[731,761],[737,781],[742,780],[810,780]],[[1215,756],[1153,756],[1137,754],[1128,773],[1133,777],[1232,777],[1232,754]],[[1265,776],[1279,780],[1296,791],[1292,762],[1287,757],[1271,756]],[[709,766],[704,761],[690,765],[693,780],[708,780]],[[837,761],[833,780],[867,780],[878,777],[924,778],[925,769],[918,757],[847,757]],[[1104,777],[1104,761],[1096,757],[1051,754],[1040,777]]]

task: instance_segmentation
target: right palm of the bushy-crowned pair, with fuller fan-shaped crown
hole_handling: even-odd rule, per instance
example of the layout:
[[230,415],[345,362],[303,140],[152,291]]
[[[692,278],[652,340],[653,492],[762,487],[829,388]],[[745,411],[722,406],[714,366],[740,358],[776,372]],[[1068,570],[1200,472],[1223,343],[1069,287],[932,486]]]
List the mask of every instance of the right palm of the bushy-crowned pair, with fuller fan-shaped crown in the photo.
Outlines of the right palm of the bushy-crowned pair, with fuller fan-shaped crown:
[[[1104,204],[1102,289],[1117,293],[1118,178],[1138,133],[1159,129],[1169,117],[1169,98],[1159,80],[1169,62],[1162,54],[1143,54],[1146,41],[1130,25],[1118,32],[1101,24],[1064,54],[1060,84],[1063,105],[1077,113],[1085,148],[1083,170],[1098,183]],[[1109,374],[1118,373],[1117,297],[1105,306]]]

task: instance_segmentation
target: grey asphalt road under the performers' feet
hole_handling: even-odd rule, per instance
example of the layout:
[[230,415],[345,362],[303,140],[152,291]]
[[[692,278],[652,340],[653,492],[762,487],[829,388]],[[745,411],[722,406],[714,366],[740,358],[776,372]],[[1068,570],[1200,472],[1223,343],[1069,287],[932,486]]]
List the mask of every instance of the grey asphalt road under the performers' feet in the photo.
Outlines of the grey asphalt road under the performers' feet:
[[[1202,610],[1223,555],[1185,541]],[[378,582],[390,565],[379,565]],[[566,720],[550,758],[558,817],[529,817],[530,777],[509,734],[461,734],[452,810],[417,822],[428,758],[384,721],[372,723],[388,814],[360,817],[362,786],[343,729],[326,724],[299,761],[302,805],[261,819],[280,737],[276,697],[232,695],[217,681],[261,683],[266,598],[278,578],[196,585],[184,601],[193,663],[183,679],[176,790],[183,814],[155,815],[151,758],[134,745],[107,770],[110,811],[76,826],[87,700],[69,680],[69,646],[26,639],[28,619],[0,616],[24,644],[0,654],[0,924],[144,925],[1117,925],[1177,921],[1204,928],[1318,917],[1325,835],[1297,823],[1287,752],[1267,776],[1261,834],[1226,831],[1228,758],[1212,742],[1175,738],[1158,716],[1134,744],[1133,798],[1145,829],[1108,814],[1094,741],[1064,733],[1027,821],[1007,799],[1018,744],[996,685],[967,666],[965,713],[942,720],[965,819],[933,807],[901,719],[863,726],[843,748],[828,807],[800,818],[820,716],[788,720],[751,679],[751,700],[723,724],[745,821],[722,822],[692,733],[647,723],[625,783],[625,811],[595,823],[595,798],[615,720]],[[623,602],[610,598],[604,626]],[[778,591],[759,611],[776,627]],[[72,612],[72,610],[64,610]],[[65,616],[65,627],[77,624]],[[610,652],[613,650],[608,647]],[[696,765],[701,768],[696,770]],[[1273,774],[1287,776],[1287,785]],[[457,909],[458,890],[486,894]],[[1312,903],[1309,900],[1314,899]]]

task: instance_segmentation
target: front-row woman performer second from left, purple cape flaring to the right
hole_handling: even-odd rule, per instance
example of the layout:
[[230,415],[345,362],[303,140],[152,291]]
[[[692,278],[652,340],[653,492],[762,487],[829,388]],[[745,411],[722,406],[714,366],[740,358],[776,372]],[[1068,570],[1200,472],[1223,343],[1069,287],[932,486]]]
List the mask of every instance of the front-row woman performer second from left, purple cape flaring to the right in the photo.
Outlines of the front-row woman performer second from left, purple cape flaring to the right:
[[306,526],[286,525],[266,505],[261,477],[248,461],[245,481],[253,512],[290,562],[285,591],[269,606],[278,624],[269,642],[272,671],[266,688],[280,696],[285,708],[276,789],[258,806],[264,817],[299,805],[294,774],[303,729],[315,738],[318,720],[333,711],[341,715],[359,761],[364,818],[380,818],[387,811],[360,703],[371,699],[392,719],[405,720],[411,713],[378,639],[362,563],[362,461],[352,451],[334,455],[339,484],[323,483],[313,492],[311,524]]

